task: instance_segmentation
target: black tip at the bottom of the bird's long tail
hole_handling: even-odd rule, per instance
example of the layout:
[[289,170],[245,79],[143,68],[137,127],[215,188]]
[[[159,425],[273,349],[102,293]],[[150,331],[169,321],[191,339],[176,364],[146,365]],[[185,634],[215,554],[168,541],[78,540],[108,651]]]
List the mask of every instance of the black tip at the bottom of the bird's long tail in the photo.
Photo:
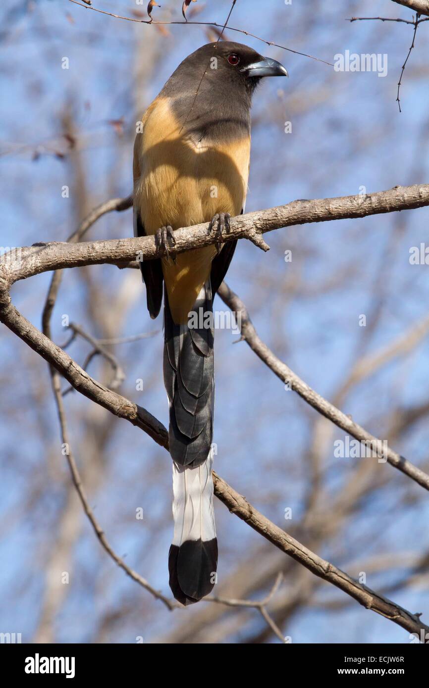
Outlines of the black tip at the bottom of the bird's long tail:
[[169,585],[182,605],[198,602],[217,582],[218,540],[187,540],[171,545],[168,555]]

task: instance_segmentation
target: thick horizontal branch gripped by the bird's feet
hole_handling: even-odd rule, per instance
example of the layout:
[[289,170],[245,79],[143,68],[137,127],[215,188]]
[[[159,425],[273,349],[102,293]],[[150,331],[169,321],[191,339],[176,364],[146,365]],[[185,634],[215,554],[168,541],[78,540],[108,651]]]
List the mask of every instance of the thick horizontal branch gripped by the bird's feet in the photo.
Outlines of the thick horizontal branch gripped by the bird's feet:
[[[388,191],[367,195],[323,198],[311,201],[293,201],[285,206],[264,211],[247,213],[231,219],[231,232],[224,239],[249,239],[260,248],[268,248],[262,234],[282,227],[312,222],[327,222],[410,210],[429,205],[429,184],[395,186]],[[208,232],[208,223],[174,232],[176,252],[191,248],[202,248],[216,242],[216,233]],[[140,257],[145,260],[163,255],[163,249],[156,246],[155,238],[113,239],[110,241],[86,241],[79,244],[44,244],[22,249],[21,264],[7,263],[6,279],[13,283],[47,270],[75,268],[77,266],[102,263],[121,263]],[[3,263],[6,261],[3,259]],[[1,290],[1,278],[0,278]],[[1,294],[0,294],[1,308]]]

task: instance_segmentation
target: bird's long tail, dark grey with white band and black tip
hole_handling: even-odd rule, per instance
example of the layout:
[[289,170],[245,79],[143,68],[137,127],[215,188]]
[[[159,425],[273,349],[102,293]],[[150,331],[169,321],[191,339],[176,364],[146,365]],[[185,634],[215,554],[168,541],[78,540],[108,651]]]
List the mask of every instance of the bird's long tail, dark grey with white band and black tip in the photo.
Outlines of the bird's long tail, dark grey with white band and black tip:
[[174,493],[169,583],[176,599],[189,605],[211,592],[218,564],[211,477],[214,376],[210,281],[194,305],[197,322],[176,325],[166,291],[164,312],[164,383],[170,407]]

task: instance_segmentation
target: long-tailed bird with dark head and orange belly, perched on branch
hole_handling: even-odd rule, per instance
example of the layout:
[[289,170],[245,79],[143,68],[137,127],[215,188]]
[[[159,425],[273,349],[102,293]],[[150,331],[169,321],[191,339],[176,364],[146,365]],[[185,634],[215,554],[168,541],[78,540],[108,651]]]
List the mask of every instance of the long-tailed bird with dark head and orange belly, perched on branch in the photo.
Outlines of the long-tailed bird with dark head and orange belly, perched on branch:
[[[174,537],[169,585],[182,605],[217,582],[213,512],[213,298],[244,213],[251,149],[251,102],[260,80],[289,76],[278,61],[233,41],[187,56],[147,107],[134,142],[134,236],[154,235],[160,256],[140,260],[151,318],[164,298],[163,377],[169,402]],[[209,246],[175,255],[174,230],[207,222]],[[196,323],[196,324],[195,324]]]

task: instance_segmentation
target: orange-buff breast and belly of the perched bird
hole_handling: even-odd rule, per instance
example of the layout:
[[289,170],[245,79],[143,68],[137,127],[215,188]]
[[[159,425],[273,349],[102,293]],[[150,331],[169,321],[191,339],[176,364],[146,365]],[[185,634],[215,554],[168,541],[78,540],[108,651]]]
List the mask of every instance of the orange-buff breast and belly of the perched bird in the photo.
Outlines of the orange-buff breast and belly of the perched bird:
[[[223,145],[195,143],[180,131],[168,99],[156,98],[136,138],[138,172],[134,198],[145,232],[209,222],[216,213],[239,215],[249,177],[250,139]],[[162,259],[171,315],[185,323],[210,275],[215,246]]]

